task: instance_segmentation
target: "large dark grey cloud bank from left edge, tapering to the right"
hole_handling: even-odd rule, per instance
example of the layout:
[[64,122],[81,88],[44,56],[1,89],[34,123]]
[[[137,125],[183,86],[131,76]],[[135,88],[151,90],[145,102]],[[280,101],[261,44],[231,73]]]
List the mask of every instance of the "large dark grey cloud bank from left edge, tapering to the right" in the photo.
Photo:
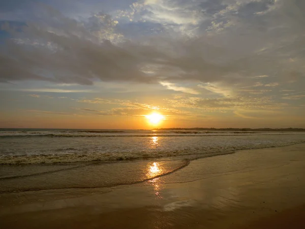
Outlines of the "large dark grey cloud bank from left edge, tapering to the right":
[[[45,26],[44,20],[41,23],[28,23],[19,40],[16,38],[7,42],[6,51],[1,56],[2,81],[38,79],[92,84],[97,79],[136,82],[160,80],[160,76],[150,77],[141,71],[140,68],[145,64],[158,64],[162,66],[161,69],[176,67],[185,72],[205,71],[209,75],[214,71],[216,74],[223,71],[222,67],[204,63],[196,55],[173,58],[151,44],[125,42],[118,46],[108,40],[100,41],[100,34],[95,34],[99,32],[98,29],[101,33],[107,33],[105,27],[111,30],[115,26],[109,15],[97,14],[84,25],[64,17],[52,8],[44,9],[50,17],[49,25],[53,26]],[[109,36],[114,30],[110,32]],[[15,34],[18,34],[17,31]]]

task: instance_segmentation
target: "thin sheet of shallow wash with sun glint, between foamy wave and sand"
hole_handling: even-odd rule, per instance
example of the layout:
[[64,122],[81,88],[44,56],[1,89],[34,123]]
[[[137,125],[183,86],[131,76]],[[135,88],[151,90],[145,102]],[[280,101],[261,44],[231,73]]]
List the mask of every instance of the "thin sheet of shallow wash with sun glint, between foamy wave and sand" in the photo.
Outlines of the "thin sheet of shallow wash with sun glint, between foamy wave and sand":
[[0,166],[0,193],[31,190],[90,189],[135,184],[188,165],[188,160],[116,163],[24,164]]

